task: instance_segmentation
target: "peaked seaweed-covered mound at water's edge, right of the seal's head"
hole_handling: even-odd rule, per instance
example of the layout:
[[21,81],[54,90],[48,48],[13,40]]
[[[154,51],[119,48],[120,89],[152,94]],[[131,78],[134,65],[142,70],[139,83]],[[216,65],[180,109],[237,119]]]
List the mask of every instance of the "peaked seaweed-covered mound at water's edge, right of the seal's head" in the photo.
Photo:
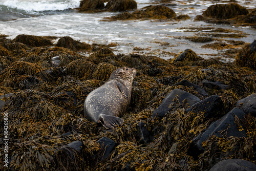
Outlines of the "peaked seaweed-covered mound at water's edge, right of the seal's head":
[[184,52],[180,53],[175,57],[172,62],[178,62],[178,61],[197,61],[197,60],[203,60],[202,57],[198,56],[193,50],[186,49]]

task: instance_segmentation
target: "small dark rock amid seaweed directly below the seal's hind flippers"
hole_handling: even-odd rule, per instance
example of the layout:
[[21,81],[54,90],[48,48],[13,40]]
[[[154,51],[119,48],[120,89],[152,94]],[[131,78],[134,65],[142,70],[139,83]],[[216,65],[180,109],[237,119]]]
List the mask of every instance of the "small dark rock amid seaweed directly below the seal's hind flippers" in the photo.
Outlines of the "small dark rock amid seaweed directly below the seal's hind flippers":
[[104,160],[111,154],[116,143],[106,137],[100,138],[97,142],[100,144],[100,149],[103,151],[102,153],[104,154],[101,160]]

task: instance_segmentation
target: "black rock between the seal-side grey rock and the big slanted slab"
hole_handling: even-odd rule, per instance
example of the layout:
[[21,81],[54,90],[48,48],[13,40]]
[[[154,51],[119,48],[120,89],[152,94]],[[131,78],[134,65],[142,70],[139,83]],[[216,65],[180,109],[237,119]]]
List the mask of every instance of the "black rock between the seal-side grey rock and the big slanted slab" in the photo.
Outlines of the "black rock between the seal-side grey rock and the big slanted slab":
[[222,114],[224,103],[218,95],[212,95],[202,101],[194,104],[186,110],[186,112],[204,113],[204,120],[212,117],[217,117]]

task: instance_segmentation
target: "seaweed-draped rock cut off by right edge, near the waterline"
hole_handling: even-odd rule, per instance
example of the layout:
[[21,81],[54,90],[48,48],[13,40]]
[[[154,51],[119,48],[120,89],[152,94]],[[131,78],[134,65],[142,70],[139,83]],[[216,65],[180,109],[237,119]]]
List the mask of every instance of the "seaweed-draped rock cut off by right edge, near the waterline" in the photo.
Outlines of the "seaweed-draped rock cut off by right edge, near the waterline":
[[256,69],[256,51],[253,48],[254,46],[255,41],[252,42],[251,46],[246,45],[239,51],[234,61],[236,65]]

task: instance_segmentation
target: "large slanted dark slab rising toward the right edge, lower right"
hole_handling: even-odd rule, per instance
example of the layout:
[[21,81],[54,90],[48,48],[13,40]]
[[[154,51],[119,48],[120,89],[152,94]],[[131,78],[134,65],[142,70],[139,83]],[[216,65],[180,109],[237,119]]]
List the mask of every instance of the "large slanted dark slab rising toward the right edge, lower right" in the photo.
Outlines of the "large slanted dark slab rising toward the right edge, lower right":
[[[234,108],[230,112],[228,112],[226,115],[221,117],[219,120],[210,124],[210,126],[207,127],[204,133],[199,134],[196,138],[192,140],[191,142],[192,146],[190,146],[190,152],[192,154],[202,153],[205,150],[204,147],[202,147],[202,142],[207,140],[209,137],[213,135],[217,137],[224,136],[222,135],[221,132],[226,130],[227,128],[228,128],[227,131],[223,133],[227,137],[230,137],[230,136],[247,137],[245,129],[242,131],[239,131],[238,126],[236,125],[236,123],[234,123],[235,117],[236,117],[235,115],[237,115],[237,117],[242,120],[244,119],[245,113],[238,108]],[[239,123],[243,126],[241,121]]]

